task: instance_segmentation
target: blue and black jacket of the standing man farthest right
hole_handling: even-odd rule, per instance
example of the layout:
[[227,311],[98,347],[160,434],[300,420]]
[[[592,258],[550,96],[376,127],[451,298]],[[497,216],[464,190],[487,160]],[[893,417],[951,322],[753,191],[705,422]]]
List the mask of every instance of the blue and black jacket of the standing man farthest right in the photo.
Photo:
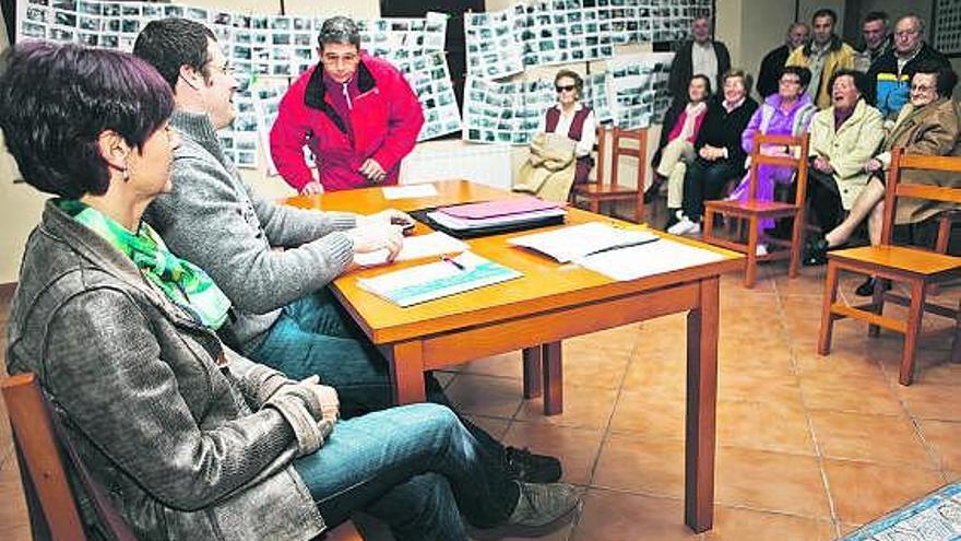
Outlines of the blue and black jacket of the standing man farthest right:
[[922,44],[921,50],[904,64],[900,73],[898,72],[898,57],[894,55],[894,49],[881,55],[867,72],[867,95],[865,97],[868,103],[874,104],[885,118],[897,118],[901,107],[907,103],[911,81],[907,80],[906,73],[911,72],[920,62],[928,60],[945,68],[951,67],[951,62],[945,55],[936,51],[926,43]]

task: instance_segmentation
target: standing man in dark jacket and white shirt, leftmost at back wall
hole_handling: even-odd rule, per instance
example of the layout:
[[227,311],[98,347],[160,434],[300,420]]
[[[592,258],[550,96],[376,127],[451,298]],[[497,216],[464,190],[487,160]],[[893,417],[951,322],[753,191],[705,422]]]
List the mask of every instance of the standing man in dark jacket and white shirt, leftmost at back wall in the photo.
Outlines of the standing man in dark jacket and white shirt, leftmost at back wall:
[[674,61],[667,77],[671,99],[687,99],[687,85],[695,75],[707,75],[712,87],[721,86],[721,75],[731,69],[731,54],[723,42],[712,36],[711,19],[704,15],[691,22],[691,39],[685,43]]

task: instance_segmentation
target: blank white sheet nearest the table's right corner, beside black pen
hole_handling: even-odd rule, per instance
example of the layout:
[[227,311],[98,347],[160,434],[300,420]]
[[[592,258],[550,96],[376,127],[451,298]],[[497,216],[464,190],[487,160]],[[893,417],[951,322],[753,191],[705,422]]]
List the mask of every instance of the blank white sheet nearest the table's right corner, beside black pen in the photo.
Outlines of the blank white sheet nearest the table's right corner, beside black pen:
[[626,281],[720,261],[721,259],[723,256],[711,250],[661,238],[656,243],[588,256],[579,260],[578,263],[610,279]]

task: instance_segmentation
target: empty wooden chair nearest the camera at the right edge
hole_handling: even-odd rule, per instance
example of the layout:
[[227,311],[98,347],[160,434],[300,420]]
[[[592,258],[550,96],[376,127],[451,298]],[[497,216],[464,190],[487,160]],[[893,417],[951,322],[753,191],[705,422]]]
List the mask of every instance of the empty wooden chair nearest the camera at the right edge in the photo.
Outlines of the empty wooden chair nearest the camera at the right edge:
[[[904,169],[938,170],[961,173],[961,157],[918,156],[902,154],[895,149],[891,154],[891,169],[885,188],[885,217],[881,227],[881,245],[864,246],[828,252],[828,275],[824,285],[824,299],[821,308],[821,330],[818,337],[818,354],[831,351],[831,333],[837,319],[853,317],[869,324],[868,333],[873,337],[880,328],[904,334],[901,353],[901,369],[898,380],[911,385],[914,377],[914,357],[924,311],[954,320],[954,343],[951,360],[961,362],[961,310],[938,306],[926,302],[927,286],[958,275],[961,258],[938,254],[923,248],[893,246],[891,237],[894,224],[897,198],[910,197],[961,203],[961,188],[901,184]],[[945,235],[947,237],[947,235]],[[947,239],[944,240],[947,248]],[[841,271],[876,275],[879,280],[905,282],[910,297],[886,295],[885,287],[875,287],[871,302],[850,306],[838,302],[838,279]],[[883,315],[885,301],[907,306],[907,319],[901,320]]]

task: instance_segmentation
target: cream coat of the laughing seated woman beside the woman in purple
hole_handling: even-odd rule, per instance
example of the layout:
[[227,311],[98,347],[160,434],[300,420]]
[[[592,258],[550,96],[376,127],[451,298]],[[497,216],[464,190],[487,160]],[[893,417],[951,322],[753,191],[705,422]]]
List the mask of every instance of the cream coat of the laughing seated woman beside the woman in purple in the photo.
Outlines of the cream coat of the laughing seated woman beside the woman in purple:
[[870,175],[864,164],[885,140],[881,113],[859,99],[851,117],[834,130],[834,107],[820,110],[811,118],[810,155],[821,156],[834,168],[834,181],[844,210],[851,210]]

